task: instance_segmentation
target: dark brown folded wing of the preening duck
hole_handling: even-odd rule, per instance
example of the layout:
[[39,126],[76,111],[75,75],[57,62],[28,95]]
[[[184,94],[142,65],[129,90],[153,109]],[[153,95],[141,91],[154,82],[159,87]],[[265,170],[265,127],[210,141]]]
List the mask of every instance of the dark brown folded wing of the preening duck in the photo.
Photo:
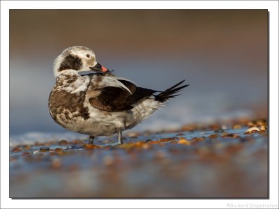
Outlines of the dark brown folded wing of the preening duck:
[[133,109],[133,104],[157,92],[148,88],[137,87],[126,80],[119,79],[118,81],[125,85],[130,92],[115,86],[98,88],[87,93],[92,95],[89,98],[92,107],[103,111],[126,111]]

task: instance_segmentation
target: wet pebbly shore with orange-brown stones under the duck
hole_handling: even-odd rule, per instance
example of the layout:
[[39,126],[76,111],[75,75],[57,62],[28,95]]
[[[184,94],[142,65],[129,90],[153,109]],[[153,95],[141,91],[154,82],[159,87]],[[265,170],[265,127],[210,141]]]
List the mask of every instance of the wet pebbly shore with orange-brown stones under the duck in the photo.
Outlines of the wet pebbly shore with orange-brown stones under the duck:
[[266,120],[131,132],[120,146],[115,136],[94,142],[11,146],[10,197],[268,197]]

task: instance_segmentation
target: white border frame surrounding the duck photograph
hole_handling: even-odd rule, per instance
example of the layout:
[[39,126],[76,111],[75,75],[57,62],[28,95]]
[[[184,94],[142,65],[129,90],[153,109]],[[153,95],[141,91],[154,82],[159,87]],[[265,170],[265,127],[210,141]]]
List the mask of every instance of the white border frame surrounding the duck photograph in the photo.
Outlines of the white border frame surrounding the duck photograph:
[[[270,199],[12,200],[9,198],[9,9],[268,9],[270,14]],[[278,1],[1,1],[1,208],[278,208]],[[234,205],[229,205],[234,204]],[[266,206],[264,206],[264,205]],[[272,207],[273,206],[273,207]],[[277,206],[277,207],[276,207]]]

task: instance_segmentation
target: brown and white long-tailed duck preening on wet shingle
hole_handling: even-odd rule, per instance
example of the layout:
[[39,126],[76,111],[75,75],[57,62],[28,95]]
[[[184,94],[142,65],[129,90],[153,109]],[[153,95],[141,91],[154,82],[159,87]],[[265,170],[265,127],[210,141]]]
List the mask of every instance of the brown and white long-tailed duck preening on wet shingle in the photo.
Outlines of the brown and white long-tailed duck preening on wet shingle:
[[[89,144],[94,137],[115,133],[122,144],[123,130],[146,119],[188,86],[180,86],[182,81],[165,91],[154,91],[123,77],[105,75],[110,71],[96,62],[94,52],[80,46],[63,50],[53,70],[56,84],[50,93],[50,114],[66,129],[88,134]],[[84,71],[97,73],[79,75]]]

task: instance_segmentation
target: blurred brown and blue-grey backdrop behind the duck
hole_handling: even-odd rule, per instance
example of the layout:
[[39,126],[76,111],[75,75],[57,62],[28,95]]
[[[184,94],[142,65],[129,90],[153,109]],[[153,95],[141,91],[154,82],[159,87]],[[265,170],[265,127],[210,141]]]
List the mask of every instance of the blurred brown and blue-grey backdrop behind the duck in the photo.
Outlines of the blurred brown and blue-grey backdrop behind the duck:
[[190,84],[133,131],[267,117],[267,10],[10,10],[11,139],[72,134],[47,102],[52,63],[73,45],[140,86]]

